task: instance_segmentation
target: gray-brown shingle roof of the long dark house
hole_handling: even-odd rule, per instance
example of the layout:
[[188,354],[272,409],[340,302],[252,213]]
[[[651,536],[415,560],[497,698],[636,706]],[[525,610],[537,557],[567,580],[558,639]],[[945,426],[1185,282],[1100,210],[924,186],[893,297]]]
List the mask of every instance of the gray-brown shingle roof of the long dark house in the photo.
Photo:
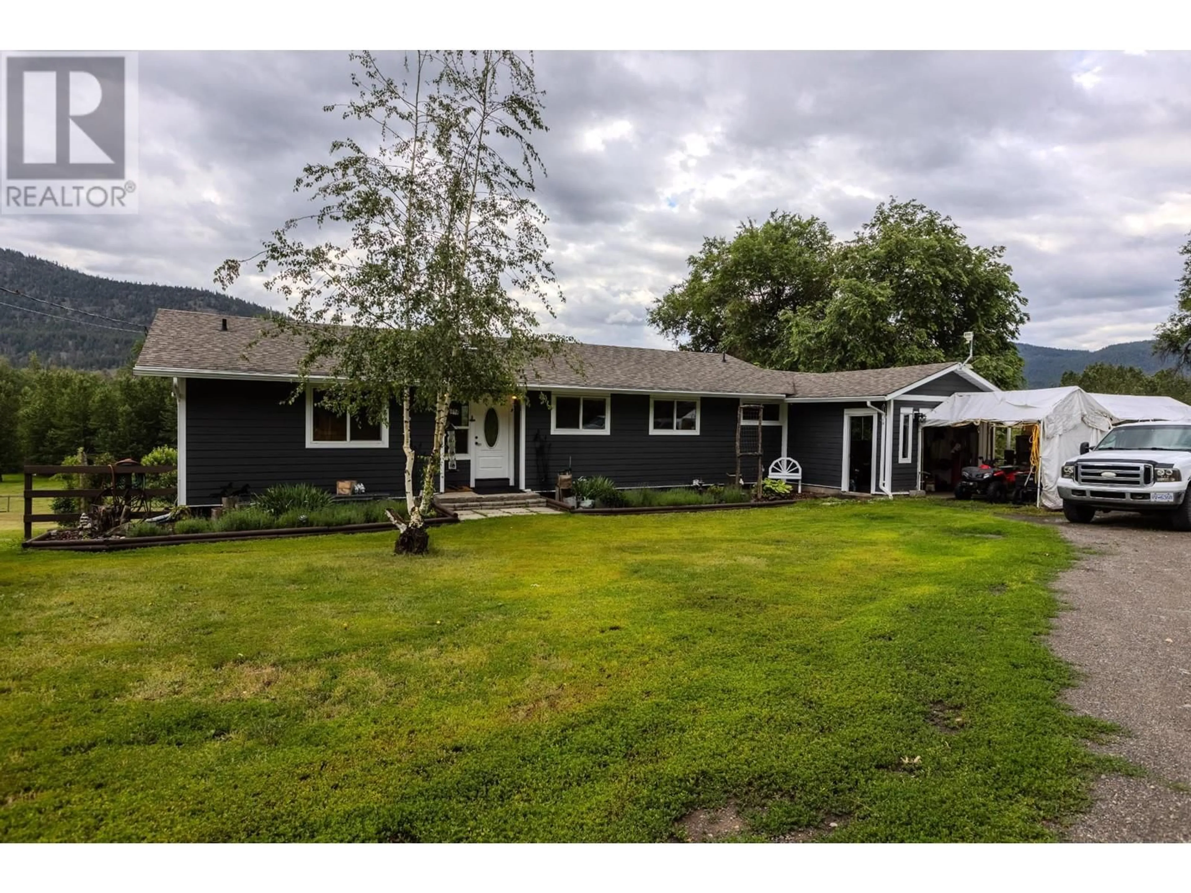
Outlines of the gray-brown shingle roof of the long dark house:
[[[223,330],[225,319],[226,331]],[[267,326],[266,320],[254,317],[158,310],[136,368],[146,374],[183,376],[186,373],[229,377],[295,375],[305,352],[301,343],[293,336],[261,339]],[[560,357],[531,370],[528,375],[530,387],[803,398],[884,396],[954,366],[931,363],[849,373],[788,373],[762,369],[723,354],[604,344],[573,344],[568,351],[570,363]]]

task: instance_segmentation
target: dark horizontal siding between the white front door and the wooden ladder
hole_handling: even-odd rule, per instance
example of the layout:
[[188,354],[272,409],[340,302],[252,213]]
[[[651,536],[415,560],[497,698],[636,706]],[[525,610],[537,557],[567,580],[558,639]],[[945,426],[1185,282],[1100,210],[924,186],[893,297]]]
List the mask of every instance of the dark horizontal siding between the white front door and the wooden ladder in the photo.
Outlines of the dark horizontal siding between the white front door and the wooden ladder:
[[[724,483],[735,473],[736,398],[701,398],[699,433],[667,436],[649,433],[648,394],[612,394],[609,435],[551,435],[550,408],[542,396],[540,392],[529,395],[525,475],[530,487],[553,488],[567,467],[576,476],[604,475],[621,487],[676,487],[696,479]],[[766,463],[778,457],[779,426],[765,429],[762,448]],[[746,480],[755,476],[755,462],[744,460]]]

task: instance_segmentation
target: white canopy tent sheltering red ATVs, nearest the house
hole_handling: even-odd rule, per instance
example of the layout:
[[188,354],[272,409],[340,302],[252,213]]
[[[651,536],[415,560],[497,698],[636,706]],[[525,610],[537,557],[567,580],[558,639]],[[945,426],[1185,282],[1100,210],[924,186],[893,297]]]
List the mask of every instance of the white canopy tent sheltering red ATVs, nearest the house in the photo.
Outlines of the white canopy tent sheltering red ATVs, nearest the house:
[[1081,388],[1065,387],[952,394],[928,411],[922,424],[925,427],[984,423],[1037,425],[1039,502],[1059,508],[1062,506],[1058,488],[1062,463],[1079,455],[1080,443],[1096,443],[1118,420]]

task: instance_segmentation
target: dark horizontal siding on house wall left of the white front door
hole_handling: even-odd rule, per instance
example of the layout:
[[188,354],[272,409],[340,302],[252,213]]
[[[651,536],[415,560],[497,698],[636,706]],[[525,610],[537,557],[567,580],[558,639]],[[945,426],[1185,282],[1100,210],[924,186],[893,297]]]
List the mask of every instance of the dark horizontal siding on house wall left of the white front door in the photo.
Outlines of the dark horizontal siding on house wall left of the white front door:
[[[304,399],[286,400],[293,392],[283,382],[191,379],[186,386],[186,500],[189,505],[218,501],[219,491],[248,485],[261,492],[276,483],[306,482],[332,488],[337,480],[362,481],[369,492],[403,495],[405,454],[401,413],[392,407],[387,449],[307,449]],[[412,445],[419,456],[430,451],[434,417],[417,413]],[[422,463],[416,469],[420,481]],[[466,461],[447,473],[448,486],[467,483]]]

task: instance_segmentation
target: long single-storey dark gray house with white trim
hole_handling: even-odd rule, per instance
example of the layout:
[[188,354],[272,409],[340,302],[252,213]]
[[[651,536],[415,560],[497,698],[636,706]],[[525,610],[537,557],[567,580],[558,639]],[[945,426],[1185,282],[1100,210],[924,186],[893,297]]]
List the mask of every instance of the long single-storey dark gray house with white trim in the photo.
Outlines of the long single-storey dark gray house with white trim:
[[[303,349],[287,338],[254,344],[263,325],[170,310],[154,319],[135,371],[174,380],[180,500],[214,505],[245,486],[343,479],[401,494],[398,407],[388,425],[337,417],[318,405],[317,379],[291,400]],[[791,456],[805,485],[908,493],[919,486],[924,454],[915,412],[955,392],[993,389],[959,363],[804,374],[723,354],[594,344],[526,379],[524,399],[451,407],[442,489],[545,491],[566,468],[621,487],[724,482],[746,402],[763,407],[766,467]],[[413,418],[411,436],[419,455],[431,451],[429,414]]]

